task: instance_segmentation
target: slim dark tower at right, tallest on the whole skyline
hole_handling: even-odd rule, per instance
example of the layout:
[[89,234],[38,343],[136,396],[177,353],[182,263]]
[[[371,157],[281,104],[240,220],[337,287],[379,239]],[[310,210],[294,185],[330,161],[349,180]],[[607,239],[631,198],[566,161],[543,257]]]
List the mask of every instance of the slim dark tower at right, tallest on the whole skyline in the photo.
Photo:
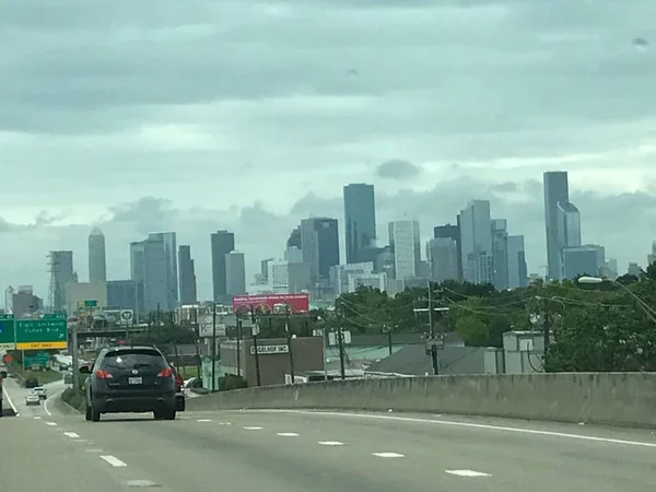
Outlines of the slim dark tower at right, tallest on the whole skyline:
[[547,232],[547,265],[549,279],[562,277],[562,248],[558,239],[559,203],[570,201],[567,173],[552,171],[543,174],[544,186],[544,225]]

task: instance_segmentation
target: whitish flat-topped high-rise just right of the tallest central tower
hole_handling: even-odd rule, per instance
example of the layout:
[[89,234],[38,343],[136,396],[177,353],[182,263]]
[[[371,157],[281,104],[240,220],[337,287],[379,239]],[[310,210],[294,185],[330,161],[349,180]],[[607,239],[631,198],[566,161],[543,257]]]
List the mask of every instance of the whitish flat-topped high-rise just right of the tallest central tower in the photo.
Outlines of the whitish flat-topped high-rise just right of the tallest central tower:
[[419,277],[421,271],[419,221],[395,221],[389,223],[388,229],[395,279],[409,280]]

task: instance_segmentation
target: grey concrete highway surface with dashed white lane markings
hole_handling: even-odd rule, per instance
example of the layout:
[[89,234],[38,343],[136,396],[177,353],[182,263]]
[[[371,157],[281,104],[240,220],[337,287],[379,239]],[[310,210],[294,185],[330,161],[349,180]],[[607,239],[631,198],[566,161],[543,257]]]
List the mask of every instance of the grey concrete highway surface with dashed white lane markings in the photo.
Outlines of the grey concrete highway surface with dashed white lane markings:
[[91,423],[62,414],[56,401],[48,408],[50,415],[0,420],[0,490],[618,492],[656,485],[652,431],[304,411],[183,412],[173,422],[103,415]]

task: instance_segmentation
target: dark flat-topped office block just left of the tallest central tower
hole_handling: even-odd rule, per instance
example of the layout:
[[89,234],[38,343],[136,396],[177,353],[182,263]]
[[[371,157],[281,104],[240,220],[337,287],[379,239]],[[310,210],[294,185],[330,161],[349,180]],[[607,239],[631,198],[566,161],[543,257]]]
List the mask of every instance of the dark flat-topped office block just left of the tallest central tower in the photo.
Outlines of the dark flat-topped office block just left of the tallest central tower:
[[311,218],[301,221],[303,262],[309,263],[313,283],[330,279],[330,267],[339,265],[337,219]]

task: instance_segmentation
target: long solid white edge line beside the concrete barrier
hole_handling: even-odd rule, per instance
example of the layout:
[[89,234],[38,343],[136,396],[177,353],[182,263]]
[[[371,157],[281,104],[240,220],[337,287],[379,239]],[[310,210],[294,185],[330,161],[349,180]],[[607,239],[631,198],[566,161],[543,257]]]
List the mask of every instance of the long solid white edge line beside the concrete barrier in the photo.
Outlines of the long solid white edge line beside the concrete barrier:
[[607,443],[607,444],[621,444],[626,446],[640,446],[640,447],[654,447],[656,443],[646,443],[642,441],[628,441],[628,440],[616,440],[612,437],[598,437],[594,435],[583,434],[571,434],[567,432],[554,432],[554,431],[538,431],[537,429],[522,429],[511,427],[505,425],[490,425],[490,424],[477,424],[471,422],[455,422],[450,420],[433,420],[433,419],[418,419],[413,417],[393,417],[393,415],[377,415],[367,413],[348,413],[348,412],[326,412],[326,411],[307,411],[307,410],[246,410],[247,412],[257,413],[296,413],[304,415],[320,415],[320,417],[348,417],[352,419],[372,419],[372,420],[391,420],[397,422],[412,422],[412,423],[426,423],[434,425],[447,425],[454,427],[469,427],[469,429],[482,429],[487,431],[501,431],[512,432],[517,434],[530,434],[530,435],[543,435],[550,437],[563,437],[578,441],[591,441],[595,443]]

